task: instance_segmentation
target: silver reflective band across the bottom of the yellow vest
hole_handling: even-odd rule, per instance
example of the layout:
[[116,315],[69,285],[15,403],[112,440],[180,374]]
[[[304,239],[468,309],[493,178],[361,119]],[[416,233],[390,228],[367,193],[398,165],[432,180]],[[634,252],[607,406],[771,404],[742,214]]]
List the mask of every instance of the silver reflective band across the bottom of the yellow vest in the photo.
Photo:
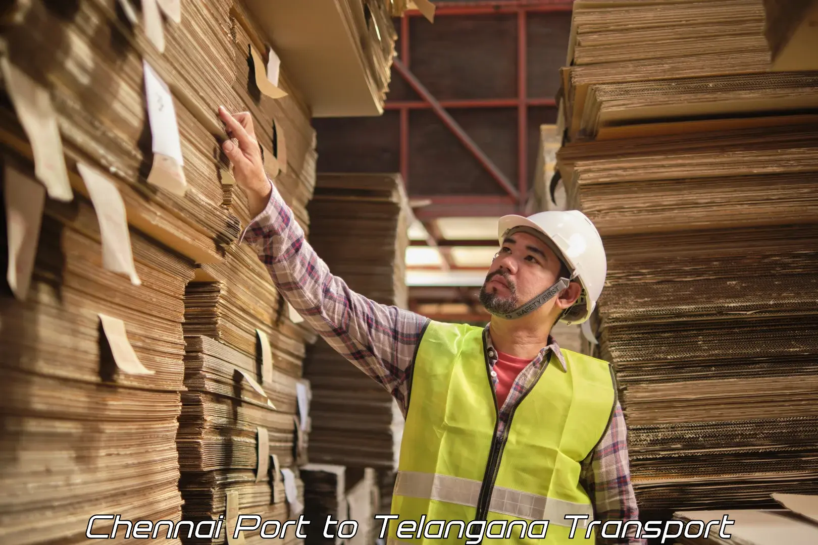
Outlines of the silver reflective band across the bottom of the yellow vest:
[[[477,507],[482,485],[483,483],[479,480],[434,473],[398,471],[394,494]],[[518,519],[548,520],[551,525],[569,527],[573,525],[573,519],[566,519],[566,515],[587,515],[588,519],[594,516],[594,510],[587,503],[566,502],[502,486],[494,487],[489,511],[514,516]],[[578,520],[577,527],[586,528],[588,522],[589,520]]]

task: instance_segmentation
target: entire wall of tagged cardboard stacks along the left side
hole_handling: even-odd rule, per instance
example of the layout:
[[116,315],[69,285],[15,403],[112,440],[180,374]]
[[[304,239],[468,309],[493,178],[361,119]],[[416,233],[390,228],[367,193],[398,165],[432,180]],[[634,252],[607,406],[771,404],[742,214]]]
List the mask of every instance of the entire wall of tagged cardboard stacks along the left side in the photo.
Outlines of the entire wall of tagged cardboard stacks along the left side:
[[[225,543],[237,510],[283,520],[303,502],[299,377],[314,337],[236,247],[250,218],[216,110],[254,107],[268,172],[305,228],[310,114],[285,76],[272,83],[252,51],[236,57],[232,0],[142,7],[32,0],[4,14],[3,255],[16,299],[0,299],[2,543],[84,543],[97,513],[227,511],[213,540]],[[281,96],[248,100],[240,78]],[[299,540],[290,529],[285,541]]]

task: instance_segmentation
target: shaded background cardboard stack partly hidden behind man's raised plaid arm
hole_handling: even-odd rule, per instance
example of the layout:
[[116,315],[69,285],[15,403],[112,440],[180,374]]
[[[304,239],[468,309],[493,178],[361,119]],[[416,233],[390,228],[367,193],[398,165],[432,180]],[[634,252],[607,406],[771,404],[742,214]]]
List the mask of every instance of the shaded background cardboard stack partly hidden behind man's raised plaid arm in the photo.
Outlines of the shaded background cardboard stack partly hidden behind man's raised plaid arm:
[[[319,174],[310,243],[350,289],[406,308],[407,199],[399,175]],[[311,462],[391,469],[393,398],[323,340],[308,351]]]

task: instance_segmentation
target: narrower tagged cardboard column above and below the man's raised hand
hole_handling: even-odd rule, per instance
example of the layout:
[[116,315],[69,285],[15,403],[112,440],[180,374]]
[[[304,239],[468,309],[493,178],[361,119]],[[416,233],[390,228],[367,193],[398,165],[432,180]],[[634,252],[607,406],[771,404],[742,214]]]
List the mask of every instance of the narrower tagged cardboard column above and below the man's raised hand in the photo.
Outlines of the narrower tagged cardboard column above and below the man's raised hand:
[[[285,69],[271,87],[263,60],[268,49],[254,21],[238,3],[230,13],[239,109],[252,115],[267,174],[308,231],[305,206],[317,157],[309,110]],[[243,194],[235,187],[226,193],[246,226],[252,218]],[[314,333],[299,325],[246,244],[228,248],[219,263],[198,267],[186,304],[189,392],[182,395],[179,432],[186,516],[215,520],[231,510],[227,499],[235,492],[240,512],[297,519],[310,396],[301,364]],[[259,539],[258,532],[248,535],[248,543]],[[300,539],[290,529],[285,541]]]

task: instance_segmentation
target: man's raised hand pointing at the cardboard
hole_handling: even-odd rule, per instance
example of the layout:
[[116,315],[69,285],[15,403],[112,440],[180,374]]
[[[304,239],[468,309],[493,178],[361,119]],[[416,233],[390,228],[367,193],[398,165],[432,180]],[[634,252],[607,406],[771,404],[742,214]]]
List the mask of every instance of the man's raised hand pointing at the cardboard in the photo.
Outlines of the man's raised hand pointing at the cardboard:
[[[272,187],[264,172],[261,150],[253,130],[253,118],[247,112],[231,115],[224,106],[218,107],[231,140],[222,144],[222,150],[233,163],[233,177],[247,196],[250,217],[263,211],[270,199]],[[236,142],[238,145],[236,145]]]

